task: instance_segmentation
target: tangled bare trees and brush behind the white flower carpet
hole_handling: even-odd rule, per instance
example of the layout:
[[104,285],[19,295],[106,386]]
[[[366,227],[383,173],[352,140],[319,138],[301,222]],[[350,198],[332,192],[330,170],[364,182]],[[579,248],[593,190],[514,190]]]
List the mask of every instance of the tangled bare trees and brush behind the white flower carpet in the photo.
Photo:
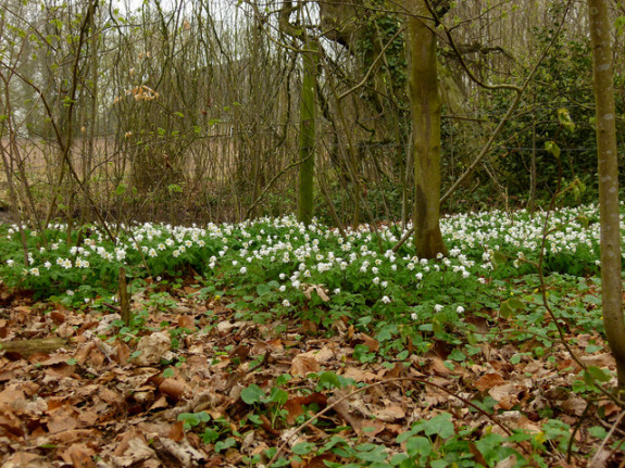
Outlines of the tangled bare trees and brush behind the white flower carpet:
[[[409,219],[414,172],[401,7],[238,3],[150,0],[116,9],[95,0],[4,1],[2,210],[38,226],[237,222],[295,212],[303,60],[286,17],[318,45],[315,214],[330,224]],[[443,192],[515,98],[477,86],[467,72],[491,85],[521,85],[539,63],[496,143],[442,210],[540,206],[560,172],[596,200],[586,2],[433,4],[445,9]],[[625,135],[625,3],[612,1],[611,15],[616,125]],[[562,109],[574,131],[563,128]],[[560,160],[547,141],[558,143]]]

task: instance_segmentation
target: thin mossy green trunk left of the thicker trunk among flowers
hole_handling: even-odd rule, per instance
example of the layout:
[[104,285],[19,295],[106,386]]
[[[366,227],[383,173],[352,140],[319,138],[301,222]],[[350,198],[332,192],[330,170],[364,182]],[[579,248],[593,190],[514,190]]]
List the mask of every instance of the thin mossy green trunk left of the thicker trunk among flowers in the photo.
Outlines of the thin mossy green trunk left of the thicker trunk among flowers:
[[307,40],[302,53],[303,83],[300,110],[300,170],[298,220],[309,225],[314,210],[314,152],[315,152],[315,80],[317,47]]

